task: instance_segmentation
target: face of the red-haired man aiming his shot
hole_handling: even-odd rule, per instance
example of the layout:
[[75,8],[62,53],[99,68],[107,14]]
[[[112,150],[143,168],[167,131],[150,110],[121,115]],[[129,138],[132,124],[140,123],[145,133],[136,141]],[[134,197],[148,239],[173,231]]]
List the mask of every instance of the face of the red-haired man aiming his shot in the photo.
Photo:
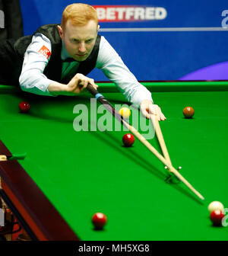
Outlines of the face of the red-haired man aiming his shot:
[[96,42],[99,26],[95,21],[88,21],[85,26],[75,26],[68,21],[65,29],[58,26],[59,35],[65,43],[69,55],[81,62],[90,56]]

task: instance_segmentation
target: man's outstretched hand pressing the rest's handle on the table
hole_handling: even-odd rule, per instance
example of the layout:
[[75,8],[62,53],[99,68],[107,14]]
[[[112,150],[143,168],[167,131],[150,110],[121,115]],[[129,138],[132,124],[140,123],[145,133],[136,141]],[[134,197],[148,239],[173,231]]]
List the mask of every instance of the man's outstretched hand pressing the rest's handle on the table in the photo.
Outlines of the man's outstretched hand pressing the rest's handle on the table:
[[153,102],[150,100],[141,101],[140,110],[144,117],[147,117],[148,119],[150,119],[150,114],[156,114],[157,120],[166,120],[166,117],[163,115],[160,107],[156,104],[153,104]]

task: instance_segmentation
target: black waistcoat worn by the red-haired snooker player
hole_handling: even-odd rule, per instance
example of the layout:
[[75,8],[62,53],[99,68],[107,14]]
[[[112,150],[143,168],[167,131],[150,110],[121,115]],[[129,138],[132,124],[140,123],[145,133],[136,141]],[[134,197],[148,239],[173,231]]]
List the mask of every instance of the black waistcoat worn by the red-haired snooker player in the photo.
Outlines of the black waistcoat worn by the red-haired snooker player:
[[[62,39],[59,36],[59,31],[57,29],[58,24],[49,24],[40,27],[36,30],[36,33],[40,33],[49,38],[52,43],[52,55],[50,56],[48,65],[44,69],[43,74],[47,78],[54,80],[56,82],[68,83],[72,77],[65,78],[61,80],[62,75],[62,59],[61,59],[61,49],[62,49]],[[24,61],[24,53],[27,47],[30,45],[33,36],[21,37],[18,40],[6,40],[0,43],[0,60],[3,65],[7,67],[5,71],[2,70],[0,77],[5,77],[5,82],[11,83],[11,85],[18,85],[18,79],[21,75],[21,69]],[[91,72],[97,62],[97,56],[100,46],[100,35],[97,35],[96,43],[93,47],[90,56],[83,62],[80,62],[78,66],[78,73],[87,75]]]

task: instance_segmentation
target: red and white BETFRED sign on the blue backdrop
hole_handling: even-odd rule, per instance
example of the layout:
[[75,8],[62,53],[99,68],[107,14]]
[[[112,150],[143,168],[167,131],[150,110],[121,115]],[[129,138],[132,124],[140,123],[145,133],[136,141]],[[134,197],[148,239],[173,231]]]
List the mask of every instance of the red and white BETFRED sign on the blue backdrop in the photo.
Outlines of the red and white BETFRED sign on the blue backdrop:
[[163,20],[167,11],[163,7],[130,5],[93,5],[100,22]]

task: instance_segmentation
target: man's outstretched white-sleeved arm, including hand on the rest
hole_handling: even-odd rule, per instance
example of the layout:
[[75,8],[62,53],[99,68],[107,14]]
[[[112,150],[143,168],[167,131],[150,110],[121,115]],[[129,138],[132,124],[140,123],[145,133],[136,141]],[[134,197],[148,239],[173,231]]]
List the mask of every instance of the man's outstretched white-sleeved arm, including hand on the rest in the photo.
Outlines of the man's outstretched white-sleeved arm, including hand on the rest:
[[150,114],[157,114],[158,120],[166,120],[160,107],[154,104],[150,91],[141,85],[135,78],[116,51],[110,46],[104,37],[100,43],[100,52],[97,58],[97,68],[101,69],[109,80],[114,82],[125,98],[140,107],[144,117],[150,118]]

